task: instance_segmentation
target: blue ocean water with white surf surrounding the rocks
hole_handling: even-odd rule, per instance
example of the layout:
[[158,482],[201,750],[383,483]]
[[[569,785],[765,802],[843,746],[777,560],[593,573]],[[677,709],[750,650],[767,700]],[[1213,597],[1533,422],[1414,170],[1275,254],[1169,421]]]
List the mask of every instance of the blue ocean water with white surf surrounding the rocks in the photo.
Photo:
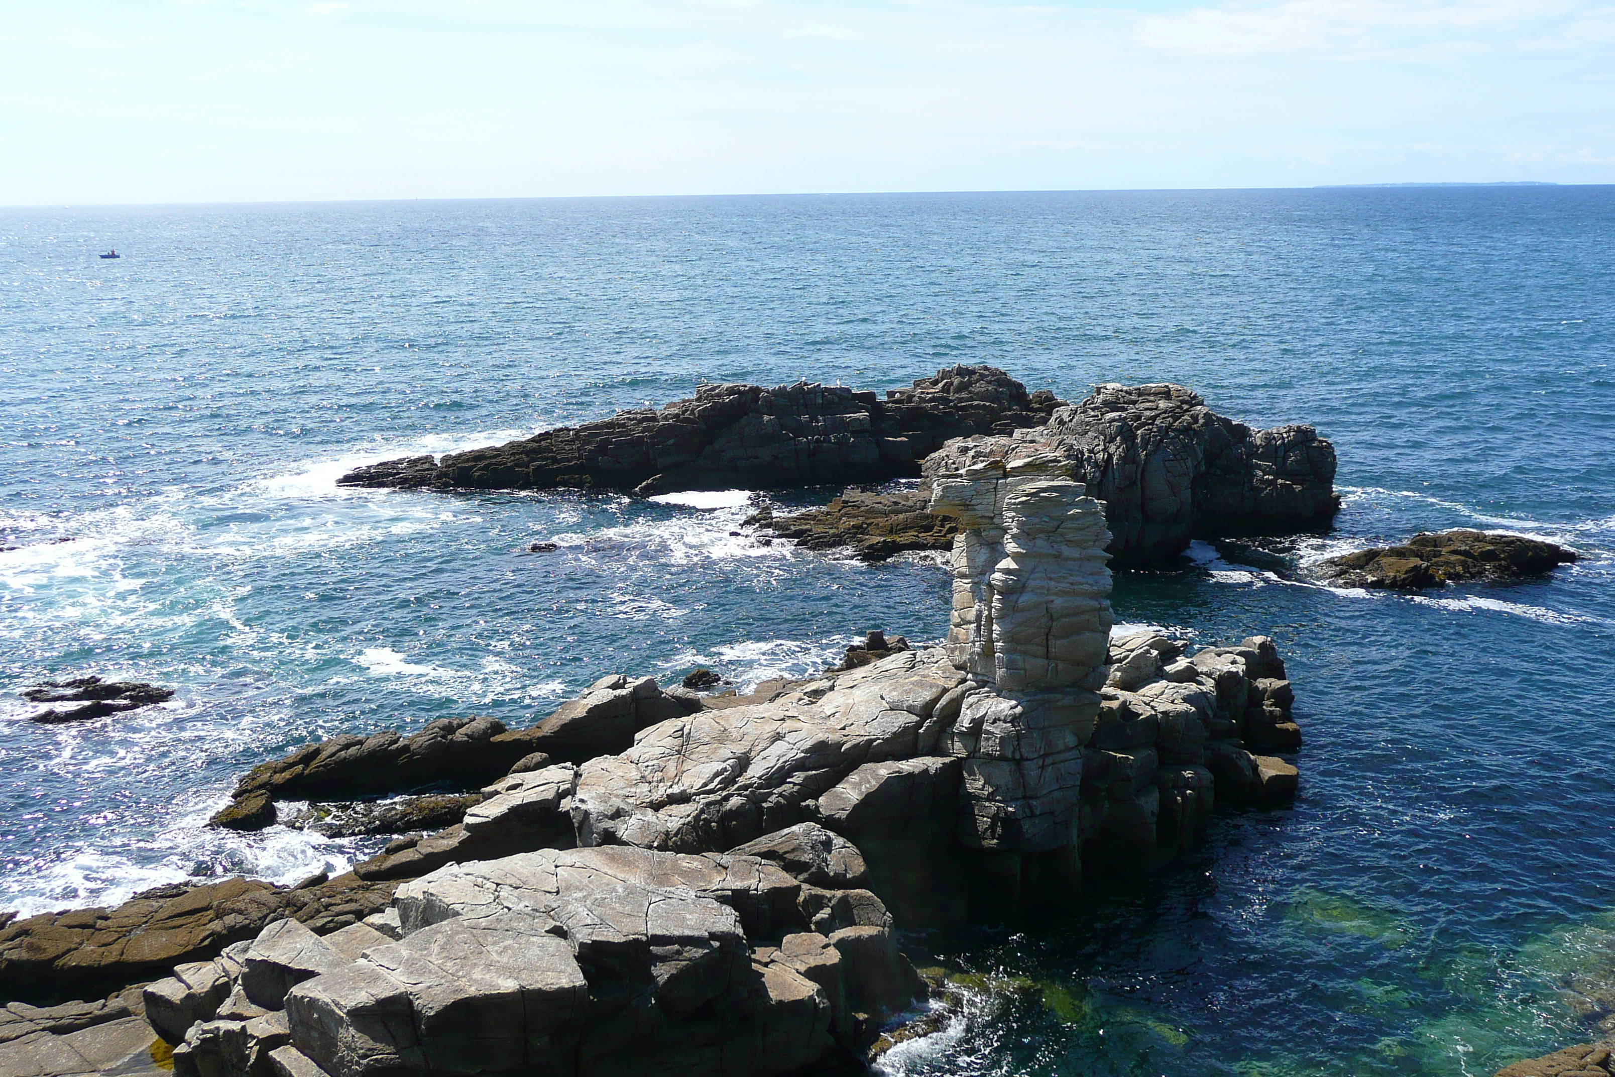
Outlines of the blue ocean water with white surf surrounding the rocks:
[[[1127,622],[1277,638],[1302,796],[1221,815],[1150,886],[916,940],[972,974],[971,1006],[887,1067],[1458,1075],[1586,1040],[1567,977],[1615,979],[1612,286],[1610,187],[0,212],[0,907],[367,856],[202,827],[312,738],[940,636],[933,559],[761,546],[735,534],[761,494],[334,480],[703,379],[987,362],[1066,399],[1179,381],[1315,423],[1345,509],[1266,546],[1289,567],[1458,525],[1584,559],[1418,597],[1234,546],[1119,575]],[[19,689],[81,673],[179,691],[26,720]]]

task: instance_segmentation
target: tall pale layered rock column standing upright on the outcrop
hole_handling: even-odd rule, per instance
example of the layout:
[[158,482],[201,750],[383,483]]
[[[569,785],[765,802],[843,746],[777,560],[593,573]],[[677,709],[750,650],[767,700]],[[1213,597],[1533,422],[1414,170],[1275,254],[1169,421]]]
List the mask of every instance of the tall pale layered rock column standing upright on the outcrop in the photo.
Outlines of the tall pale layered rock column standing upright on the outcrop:
[[1114,622],[1105,504],[1056,455],[938,476],[958,517],[948,657],[971,688],[946,736],[963,759],[959,840],[1013,857],[1079,846],[1082,748]]

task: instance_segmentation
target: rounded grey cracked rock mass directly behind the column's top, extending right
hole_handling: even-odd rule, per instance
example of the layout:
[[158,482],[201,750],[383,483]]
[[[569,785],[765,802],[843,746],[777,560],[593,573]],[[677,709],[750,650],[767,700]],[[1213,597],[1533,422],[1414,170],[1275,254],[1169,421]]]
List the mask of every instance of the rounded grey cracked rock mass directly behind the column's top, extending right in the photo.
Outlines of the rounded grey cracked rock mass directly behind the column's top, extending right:
[[1334,447],[1311,426],[1252,430],[1172,384],[1098,386],[1047,426],[951,442],[924,473],[1035,455],[1059,459],[1105,502],[1113,567],[1176,555],[1193,538],[1326,526],[1340,504]]

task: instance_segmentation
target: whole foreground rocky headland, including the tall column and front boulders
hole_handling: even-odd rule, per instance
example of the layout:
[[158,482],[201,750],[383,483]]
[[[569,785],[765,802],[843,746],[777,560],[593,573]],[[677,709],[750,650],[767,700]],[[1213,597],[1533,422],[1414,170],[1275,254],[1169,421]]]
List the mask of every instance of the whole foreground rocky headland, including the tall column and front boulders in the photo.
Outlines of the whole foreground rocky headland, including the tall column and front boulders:
[[312,744],[218,823],[434,783],[464,814],[336,880],[11,924],[0,993],[160,975],[144,1011],[179,1077],[853,1064],[925,993],[895,928],[1069,901],[1084,872],[1148,874],[1219,801],[1294,794],[1258,754],[1300,744],[1273,643],[1113,639],[1105,509],[1059,457],[937,476],[930,510],[958,526],[943,646],[872,635],[727,704],[609,677],[531,730]]

